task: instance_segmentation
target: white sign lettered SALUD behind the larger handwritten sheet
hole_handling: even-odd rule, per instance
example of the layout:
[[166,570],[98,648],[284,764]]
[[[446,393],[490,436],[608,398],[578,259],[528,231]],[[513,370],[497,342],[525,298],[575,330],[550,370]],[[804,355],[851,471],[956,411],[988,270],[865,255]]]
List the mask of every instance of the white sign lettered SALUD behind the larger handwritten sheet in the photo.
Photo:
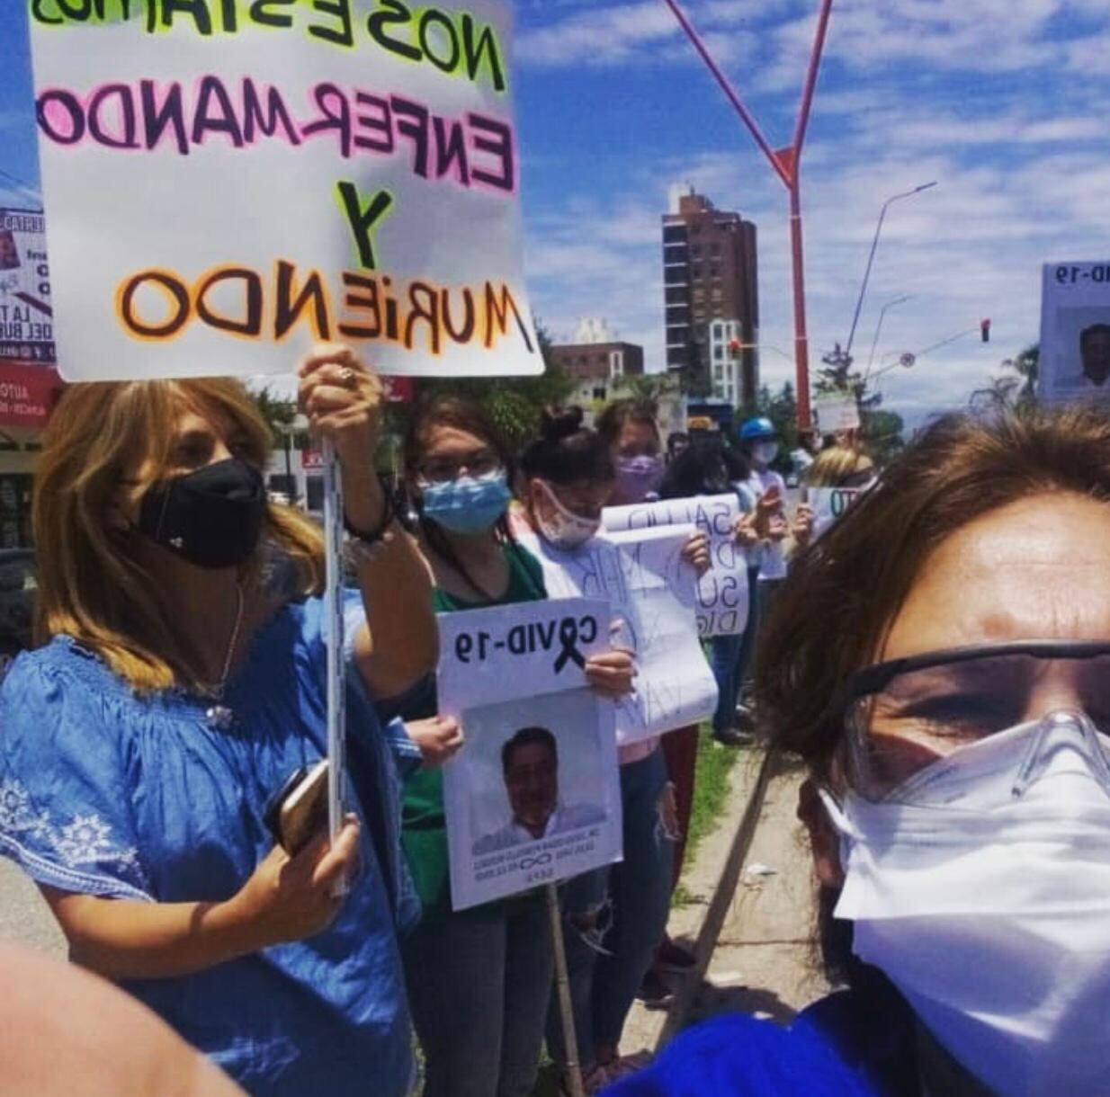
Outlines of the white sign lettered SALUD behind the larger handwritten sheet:
[[747,560],[733,535],[738,517],[735,495],[713,495],[607,507],[602,525],[607,532],[696,526],[709,538],[713,566],[697,582],[697,628],[704,638],[736,634],[748,623]]

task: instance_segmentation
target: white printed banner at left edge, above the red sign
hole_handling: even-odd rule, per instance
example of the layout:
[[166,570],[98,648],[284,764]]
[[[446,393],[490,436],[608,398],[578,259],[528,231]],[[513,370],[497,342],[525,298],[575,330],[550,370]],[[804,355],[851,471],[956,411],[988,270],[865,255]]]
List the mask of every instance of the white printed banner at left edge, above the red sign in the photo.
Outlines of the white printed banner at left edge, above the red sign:
[[0,360],[53,365],[53,309],[42,214],[0,210]]

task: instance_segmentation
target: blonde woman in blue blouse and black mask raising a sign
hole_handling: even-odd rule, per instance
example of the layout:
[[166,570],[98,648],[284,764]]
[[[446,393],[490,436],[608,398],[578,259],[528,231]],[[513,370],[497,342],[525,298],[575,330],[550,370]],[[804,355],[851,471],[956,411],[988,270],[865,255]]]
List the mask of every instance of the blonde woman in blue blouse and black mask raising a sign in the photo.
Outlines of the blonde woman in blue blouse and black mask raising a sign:
[[[250,1093],[387,1097],[413,1075],[394,753],[415,749],[375,701],[432,668],[431,586],[372,471],[375,378],[322,346],[300,399],[335,446],[363,545],[340,836],[290,857],[263,822],[326,750],[320,535],[268,506],[270,433],[241,385],[132,382],[73,386],[43,439],[46,642],[0,691],[0,853],[39,884],[74,961]],[[275,550],[300,600],[268,593]]]

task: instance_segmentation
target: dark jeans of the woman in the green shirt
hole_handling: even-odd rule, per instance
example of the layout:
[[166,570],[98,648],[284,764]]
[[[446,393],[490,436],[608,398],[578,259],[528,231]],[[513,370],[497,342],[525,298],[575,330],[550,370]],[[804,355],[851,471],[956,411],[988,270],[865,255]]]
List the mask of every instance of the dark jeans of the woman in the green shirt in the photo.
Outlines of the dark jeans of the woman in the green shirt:
[[423,922],[402,949],[424,1097],[527,1097],[552,986],[544,896]]

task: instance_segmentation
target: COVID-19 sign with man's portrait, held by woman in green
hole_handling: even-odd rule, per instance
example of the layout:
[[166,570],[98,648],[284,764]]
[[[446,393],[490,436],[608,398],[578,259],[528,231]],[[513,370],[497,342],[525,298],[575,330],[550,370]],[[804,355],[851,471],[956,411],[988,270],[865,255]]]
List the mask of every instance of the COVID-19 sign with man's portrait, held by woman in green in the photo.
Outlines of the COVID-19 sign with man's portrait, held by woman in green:
[[583,670],[608,633],[584,598],[440,618],[440,712],[466,737],[443,771],[456,911],[620,856],[615,705]]

